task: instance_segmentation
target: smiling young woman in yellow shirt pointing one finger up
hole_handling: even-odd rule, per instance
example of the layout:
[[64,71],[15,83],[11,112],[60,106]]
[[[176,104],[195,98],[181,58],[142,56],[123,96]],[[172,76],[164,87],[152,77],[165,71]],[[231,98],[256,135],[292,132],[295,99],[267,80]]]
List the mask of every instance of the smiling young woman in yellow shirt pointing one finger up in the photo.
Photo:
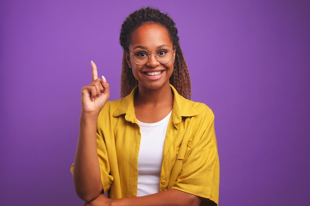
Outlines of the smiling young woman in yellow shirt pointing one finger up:
[[[120,33],[121,97],[98,78],[82,88],[80,134],[71,167],[85,206],[199,206],[218,203],[214,116],[193,102],[173,20],[146,7]],[[104,193],[107,192],[107,197]]]

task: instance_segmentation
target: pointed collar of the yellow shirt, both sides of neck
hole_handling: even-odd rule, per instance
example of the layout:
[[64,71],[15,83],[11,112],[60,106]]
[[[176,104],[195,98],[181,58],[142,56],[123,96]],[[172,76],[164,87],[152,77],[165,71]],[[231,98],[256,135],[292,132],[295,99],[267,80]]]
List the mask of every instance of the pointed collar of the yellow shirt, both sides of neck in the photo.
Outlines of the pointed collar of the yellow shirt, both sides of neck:
[[[171,114],[173,122],[177,124],[182,121],[182,117],[193,117],[198,115],[197,110],[190,104],[191,101],[181,96],[171,84],[170,87],[174,95]],[[134,95],[137,88],[138,86],[136,86],[129,95],[120,100],[120,104],[113,112],[113,117],[125,115],[126,121],[138,124],[134,109]]]

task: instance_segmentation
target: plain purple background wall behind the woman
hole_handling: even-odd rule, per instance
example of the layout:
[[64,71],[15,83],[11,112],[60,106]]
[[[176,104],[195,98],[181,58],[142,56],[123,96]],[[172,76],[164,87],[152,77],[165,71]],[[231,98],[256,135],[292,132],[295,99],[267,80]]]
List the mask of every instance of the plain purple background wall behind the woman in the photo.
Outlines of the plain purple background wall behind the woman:
[[309,205],[309,0],[1,0],[0,205],[79,206],[69,171],[90,61],[119,98],[124,18],[168,12],[215,114],[221,206]]

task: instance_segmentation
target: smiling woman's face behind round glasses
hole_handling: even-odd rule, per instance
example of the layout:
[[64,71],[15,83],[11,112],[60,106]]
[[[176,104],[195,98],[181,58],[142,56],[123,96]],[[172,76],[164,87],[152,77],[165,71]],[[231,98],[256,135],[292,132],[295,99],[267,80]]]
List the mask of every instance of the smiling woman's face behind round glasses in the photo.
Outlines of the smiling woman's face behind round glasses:
[[[148,55],[141,50],[147,50],[151,55],[143,65],[136,64],[133,55],[129,53],[126,55],[127,63],[131,66],[132,73],[139,82],[139,89],[159,89],[169,86],[169,78],[173,73],[175,51],[167,29],[154,23],[146,23],[138,27],[132,33],[129,51],[135,53],[136,58]],[[172,50],[173,52],[171,52]],[[172,55],[172,58],[168,63],[162,64],[157,59],[160,60],[165,53]],[[155,54],[157,54],[157,59]]]

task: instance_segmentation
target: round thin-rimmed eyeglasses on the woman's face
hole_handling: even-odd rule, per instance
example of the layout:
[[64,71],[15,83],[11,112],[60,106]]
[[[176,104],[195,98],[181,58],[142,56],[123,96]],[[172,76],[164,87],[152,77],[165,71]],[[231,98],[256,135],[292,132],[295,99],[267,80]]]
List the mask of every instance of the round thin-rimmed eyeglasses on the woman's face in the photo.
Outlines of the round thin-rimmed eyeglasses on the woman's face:
[[151,53],[155,53],[155,58],[160,64],[167,64],[172,59],[173,50],[160,49],[158,51],[147,51],[145,49],[137,50],[137,51],[129,51],[129,53],[133,56],[133,60],[138,65],[146,64],[150,57]]

